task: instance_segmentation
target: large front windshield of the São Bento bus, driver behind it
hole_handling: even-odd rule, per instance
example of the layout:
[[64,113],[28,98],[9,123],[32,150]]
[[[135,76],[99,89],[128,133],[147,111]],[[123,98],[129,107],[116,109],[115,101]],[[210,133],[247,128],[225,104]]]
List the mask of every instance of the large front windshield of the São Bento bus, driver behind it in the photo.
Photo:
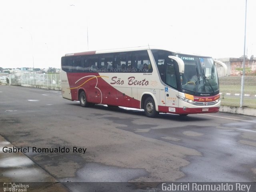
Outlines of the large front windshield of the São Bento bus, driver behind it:
[[178,55],[185,64],[182,89],[195,95],[215,94],[219,90],[218,74],[212,58]]

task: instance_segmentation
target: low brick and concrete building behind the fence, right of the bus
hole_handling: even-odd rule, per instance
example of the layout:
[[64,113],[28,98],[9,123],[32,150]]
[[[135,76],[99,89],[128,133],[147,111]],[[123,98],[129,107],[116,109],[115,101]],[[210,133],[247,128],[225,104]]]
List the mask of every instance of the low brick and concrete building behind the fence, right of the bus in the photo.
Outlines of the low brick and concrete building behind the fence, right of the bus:
[[[238,70],[239,68],[243,68],[243,61],[244,58],[218,58],[221,62],[224,62],[227,67],[228,71],[227,74],[230,76],[238,76],[242,75],[242,71]],[[250,68],[251,72],[246,73],[246,75],[256,74],[256,58],[251,56],[250,59],[246,58],[245,60],[245,68]]]

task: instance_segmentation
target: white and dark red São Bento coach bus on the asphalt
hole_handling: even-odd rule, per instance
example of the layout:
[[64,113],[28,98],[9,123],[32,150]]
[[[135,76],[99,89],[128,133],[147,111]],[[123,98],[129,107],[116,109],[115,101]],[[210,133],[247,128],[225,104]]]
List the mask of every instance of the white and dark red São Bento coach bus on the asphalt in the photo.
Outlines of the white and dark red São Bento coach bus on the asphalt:
[[147,47],[66,54],[62,97],[144,109],[148,117],[214,113],[220,108],[218,74],[208,56]]

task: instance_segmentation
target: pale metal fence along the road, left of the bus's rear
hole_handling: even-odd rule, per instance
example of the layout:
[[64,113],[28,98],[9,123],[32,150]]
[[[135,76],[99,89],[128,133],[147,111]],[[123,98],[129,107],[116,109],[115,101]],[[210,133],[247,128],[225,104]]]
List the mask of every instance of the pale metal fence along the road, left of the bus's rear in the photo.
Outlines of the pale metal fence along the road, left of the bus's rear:
[[60,74],[10,74],[10,85],[61,90]]

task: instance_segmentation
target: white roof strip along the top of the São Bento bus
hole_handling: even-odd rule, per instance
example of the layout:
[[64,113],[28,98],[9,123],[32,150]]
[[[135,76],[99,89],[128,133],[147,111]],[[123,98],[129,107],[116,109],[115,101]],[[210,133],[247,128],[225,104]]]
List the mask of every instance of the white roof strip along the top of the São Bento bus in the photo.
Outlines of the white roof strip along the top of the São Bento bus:
[[173,52],[174,54],[182,54],[182,55],[188,55],[188,56],[198,56],[198,57],[209,57],[210,56],[202,56],[199,54],[193,54],[193,53],[186,53],[186,52],[180,52],[180,51],[172,51],[168,48],[161,48],[161,47],[155,47],[155,46],[140,46],[140,47],[129,47],[129,48],[118,48],[118,49],[107,49],[107,50],[97,50],[97,51],[86,51],[86,52],[78,52],[78,53],[69,53],[65,54],[65,56],[82,56],[82,55],[93,55],[93,54],[101,54],[101,53],[114,53],[114,52],[128,52],[128,51],[138,51],[138,50],[166,50]]

